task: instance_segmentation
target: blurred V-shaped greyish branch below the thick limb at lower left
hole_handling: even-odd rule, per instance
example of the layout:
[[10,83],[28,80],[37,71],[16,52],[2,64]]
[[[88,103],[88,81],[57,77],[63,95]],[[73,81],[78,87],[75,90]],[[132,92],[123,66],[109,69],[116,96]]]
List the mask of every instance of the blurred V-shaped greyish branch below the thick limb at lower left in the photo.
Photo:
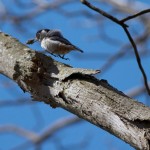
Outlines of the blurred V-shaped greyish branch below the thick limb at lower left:
[[68,126],[75,125],[76,123],[79,123],[82,121],[83,121],[82,119],[76,116],[72,116],[72,117],[69,116],[69,117],[61,118],[57,120],[56,122],[54,122],[53,124],[50,124],[49,127],[47,127],[46,129],[43,129],[40,134],[25,130],[25,129],[22,129],[13,125],[8,125],[6,127],[0,126],[0,132],[6,132],[6,131],[15,132],[28,139],[28,141],[25,141],[24,143],[14,147],[13,150],[15,150],[15,149],[22,149],[23,147],[30,147],[31,143],[36,146],[40,146],[41,143],[45,142],[47,139],[52,138],[53,135],[57,133],[58,131]]

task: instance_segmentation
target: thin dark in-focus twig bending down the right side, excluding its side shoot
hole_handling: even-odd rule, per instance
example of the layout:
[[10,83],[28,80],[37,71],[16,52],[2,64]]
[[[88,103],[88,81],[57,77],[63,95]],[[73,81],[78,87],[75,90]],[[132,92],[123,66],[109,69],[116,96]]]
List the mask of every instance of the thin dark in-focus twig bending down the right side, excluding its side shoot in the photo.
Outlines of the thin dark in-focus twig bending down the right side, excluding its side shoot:
[[131,34],[129,33],[129,31],[128,31],[128,29],[127,29],[128,26],[127,26],[124,22],[118,20],[117,18],[113,17],[112,15],[108,14],[107,12],[105,12],[105,11],[103,11],[103,10],[101,10],[101,9],[99,9],[99,8],[97,8],[97,7],[95,7],[95,6],[93,6],[92,4],[90,4],[89,2],[87,2],[86,0],[81,0],[81,2],[82,2],[84,5],[86,5],[87,7],[91,8],[92,10],[98,12],[99,14],[101,14],[101,15],[107,17],[107,18],[110,19],[111,21],[117,23],[118,25],[120,25],[120,26],[124,29],[124,31],[125,31],[125,33],[126,33],[128,39],[129,39],[129,41],[130,41],[130,43],[132,44],[132,47],[133,47],[133,49],[134,49],[134,53],[135,53],[135,56],[136,56],[136,60],[137,60],[139,69],[140,69],[140,71],[141,71],[141,73],[142,73],[142,75],[143,75],[143,78],[144,78],[145,87],[146,87],[146,89],[147,89],[148,94],[150,95],[150,89],[149,89],[149,86],[148,86],[148,81],[147,81],[146,73],[145,73],[144,68],[143,68],[143,66],[142,66],[142,64],[141,64],[141,59],[140,59],[140,56],[139,56],[139,53],[138,53],[136,44],[135,44],[135,42],[134,42],[134,40],[133,40]]

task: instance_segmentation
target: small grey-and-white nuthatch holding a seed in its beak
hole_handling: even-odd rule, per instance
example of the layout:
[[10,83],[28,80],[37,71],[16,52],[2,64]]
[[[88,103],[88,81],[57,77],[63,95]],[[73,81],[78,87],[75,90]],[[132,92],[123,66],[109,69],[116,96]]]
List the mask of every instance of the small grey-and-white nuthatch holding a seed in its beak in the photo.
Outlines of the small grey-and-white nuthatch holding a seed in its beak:
[[36,33],[35,39],[27,41],[27,44],[33,44],[36,41],[39,41],[41,43],[41,47],[47,52],[52,55],[57,54],[61,58],[64,58],[64,55],[72,50],[83,53],[81,49],[64,38],[59,30],[39,30]]

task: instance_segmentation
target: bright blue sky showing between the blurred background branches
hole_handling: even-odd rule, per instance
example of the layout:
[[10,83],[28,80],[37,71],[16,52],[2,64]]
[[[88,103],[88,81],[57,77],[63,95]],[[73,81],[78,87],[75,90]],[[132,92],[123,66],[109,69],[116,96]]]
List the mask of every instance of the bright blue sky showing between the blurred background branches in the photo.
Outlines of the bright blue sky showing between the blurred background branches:
[[[3,1],[4,2],[4,1]],[[18,7],[13,7],[14,5],[8,5],[10,1],[5,1],[9,9],[15,9],[17,15],[21,15],[24,12],[29,12],[29,8],[25,10],[20,10]],[[150,6],[150,2],[149,2]],[[64,9],[68,11],[84,9],[92,12],[86,8],[81,3],[76,3],[73,5],[64,6]],[[110,8],[103,9],[109,10]],[[35,26],[38,22],[38,26]],[[91,19],[79,16],[76,18],[67,18],[59,14],[57,11],[48,11],[43,13],[34,20],[27,20],[24,22],[23,26],[27,29],[26,32],[20,32],[11,21],[5,23],[1,26],[1,30],[16,37],[22,43],[25,43],[28,39],[31,39],[35,36],[37,30],[41,28],[51,28],[51,29],[60,29],[63,35],[69,39],[73,44],[77,45],[84,50],[83,54],[71,52],[67,54],[66,57],[70,58],[70,61],[65,61],[60,58],[55,58],[56,60],[67,63],[73,67],[79,68],[89,68],[89,69],[100,69],[102,65],[107,61],[103,59],[100,55],[101,53],[114,54],[119,49],[123,43],[127,43],[128,39],[123,32],[123,30],[118,26],[107,20],[106,28],[107,34],[110,37],[117,39],[120,43],[109,44],[104,42],[100,38],[96,38],[99,30],[103,30],[103,27],[97,24],[97,22],[91,22]],[[129,22],[131,29],[135,28],[137,31],[142,32],[141,26],[136,26],[133,21]],[[98,27],[99,26],[99,27]],[[29,32],[28,32],[29,31]],[[42,50],[38,43],[30,46],[34,50]],[[96,57],[90,57],[92,54],[96,54]],[[88,57],[87,57],[88,55]],[[146,70],[148,79],[150,79],[149,58],[142,59],[142,64]],[[108,71],[99,74],[97,76],[99,79],[103,78],[108,80],[110,84],[118,88],[121,91],[126,91],[134,86],[142,85],[142,76],[139,71],[138,65],[135,58],[123,59],[115,63]],[[16,99],[28,99],[31,100],[28,93],[23,93],[23,91],[8,78],[0,75],[0,102],[1,101],[15,101]],[[138,97],[140,101],[144,101],[144,96]],[[0,103],[1,104],[1,103]],[[35,132],[40,132],[41,129],[46,128],[48,125],[57,121],[60,118],[70,116],[69,112],[57,108],[52,109],[44,103],[37,102],[31,105],[18,105],[18,106],[5,106],[0,109],[0,125],[13,124],[20,127],[23,127],[28,130],[33,130]],[[85,150],[132,150],[128,144],[114,137],[113,135],[107,133],[106,131],[84,121],[78,125],[70,126],[65,128],[62,131],[56,133],[53,139],[47,140],[42,146],[42,150],[56,150],[58,149],[58,144],[56,141],[61,141],[61,144],[65,147],[71,145],[80,144],[84,139],[89,139],[87,146],[83,149]],[[9,145],[8,145],[9,141]],[[12,147],[15,147],[17,144],[24,142],[25,139],[15,134],[11,133],[1,133],[0,134],[0,149],[8,150]],[[34,149],[31,146],[29,149]],[[75,148],[76,149],[76,148]]]

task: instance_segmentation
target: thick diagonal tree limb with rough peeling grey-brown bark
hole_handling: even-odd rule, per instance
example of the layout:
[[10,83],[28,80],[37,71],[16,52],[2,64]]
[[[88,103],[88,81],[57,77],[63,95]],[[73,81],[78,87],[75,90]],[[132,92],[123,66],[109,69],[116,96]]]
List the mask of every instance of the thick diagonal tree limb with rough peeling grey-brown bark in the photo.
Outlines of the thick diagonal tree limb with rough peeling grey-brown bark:
[[150,108],[106,80],[97,70],[72,68],[0,33],[0,73],[37,101],[61,107],[129,143],[150,150]]

